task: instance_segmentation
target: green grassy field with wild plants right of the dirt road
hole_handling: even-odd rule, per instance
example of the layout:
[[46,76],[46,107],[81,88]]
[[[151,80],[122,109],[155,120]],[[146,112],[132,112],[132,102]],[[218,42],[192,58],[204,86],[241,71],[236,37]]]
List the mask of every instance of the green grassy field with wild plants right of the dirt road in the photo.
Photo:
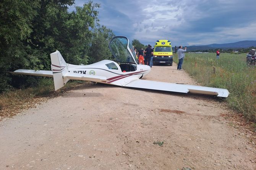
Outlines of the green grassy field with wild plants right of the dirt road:
[[223,53],[217,60],[215,53],[186,53],[183,69],[202,86],[228,89],[228,106],[256,122],[256,67],[246,65],[246,54]]

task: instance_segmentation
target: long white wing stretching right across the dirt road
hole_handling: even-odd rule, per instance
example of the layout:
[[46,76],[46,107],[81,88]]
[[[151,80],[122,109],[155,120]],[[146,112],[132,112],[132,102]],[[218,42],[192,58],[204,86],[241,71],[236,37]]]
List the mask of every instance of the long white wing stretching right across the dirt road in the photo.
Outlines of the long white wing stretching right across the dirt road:
[[169,91],[169,92],[180,92],[180,93],[198,93],[198,94],[210,94],[217,95],[218,97],[228,97],[227,89],[219,89],[213,87],[204,87],[204,86],[193,86],[187,84],[176,84],[176,83],[165,83],[160,81],[151,81],[137,79],[131,81],[130,83],[124,85],[124,87],[133,87],[140,89],[152,89],[160,91]]

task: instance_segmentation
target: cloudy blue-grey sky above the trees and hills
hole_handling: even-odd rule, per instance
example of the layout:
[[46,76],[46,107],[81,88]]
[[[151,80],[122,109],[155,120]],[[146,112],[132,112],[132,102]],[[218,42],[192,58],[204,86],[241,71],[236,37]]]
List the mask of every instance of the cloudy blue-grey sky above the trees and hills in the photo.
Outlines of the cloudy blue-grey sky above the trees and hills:
[[[75,0],[83,6],[87,0]],[[92,0],[99,24],[130,41],[172,46],[256,40],[256,0]],[[75,10],[70,6],[69,11]]]

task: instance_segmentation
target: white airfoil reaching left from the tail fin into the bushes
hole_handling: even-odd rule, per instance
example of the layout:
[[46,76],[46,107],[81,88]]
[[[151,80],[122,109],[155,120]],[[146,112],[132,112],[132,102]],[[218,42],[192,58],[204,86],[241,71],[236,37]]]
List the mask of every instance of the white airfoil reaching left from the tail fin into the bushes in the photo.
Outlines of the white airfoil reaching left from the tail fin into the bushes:
[[52,71],[48,70],[25,70],[19,69],[13,72],[9,71],[12,74],[19,74],[19,75],[32,75],[32,76],[46,76],[46,77],[53,77]]

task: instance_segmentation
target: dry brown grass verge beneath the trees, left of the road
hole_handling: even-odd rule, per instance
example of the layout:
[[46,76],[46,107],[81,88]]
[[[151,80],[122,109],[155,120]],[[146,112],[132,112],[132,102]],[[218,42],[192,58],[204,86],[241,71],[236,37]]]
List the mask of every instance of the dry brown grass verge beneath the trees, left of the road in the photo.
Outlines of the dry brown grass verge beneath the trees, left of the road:
[[90,82],[70,81],[61,90],[54,91],[53,81],[50,78],[42,79],[39,86],[28,89],[13,89],[0,94],[0,120],[11,117],[24,109],[35,107],[38,103],[46,102],[49,98],[62,95]]

